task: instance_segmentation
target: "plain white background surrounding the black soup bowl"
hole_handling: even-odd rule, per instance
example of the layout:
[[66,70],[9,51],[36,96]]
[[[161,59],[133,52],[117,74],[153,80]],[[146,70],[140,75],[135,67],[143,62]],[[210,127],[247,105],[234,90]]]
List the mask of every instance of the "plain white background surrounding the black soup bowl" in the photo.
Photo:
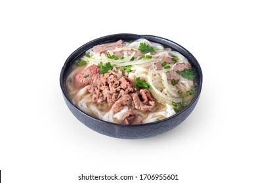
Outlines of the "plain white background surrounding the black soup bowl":
[[[255,17],[253,1],[1,1],[2,181],[89,182],[77,176],[116,173],[255,182]],[[165,37],[200,62],[200,100],[177,128],[150,139],[114,139],[66,107],[64,61],[114,33]]]

